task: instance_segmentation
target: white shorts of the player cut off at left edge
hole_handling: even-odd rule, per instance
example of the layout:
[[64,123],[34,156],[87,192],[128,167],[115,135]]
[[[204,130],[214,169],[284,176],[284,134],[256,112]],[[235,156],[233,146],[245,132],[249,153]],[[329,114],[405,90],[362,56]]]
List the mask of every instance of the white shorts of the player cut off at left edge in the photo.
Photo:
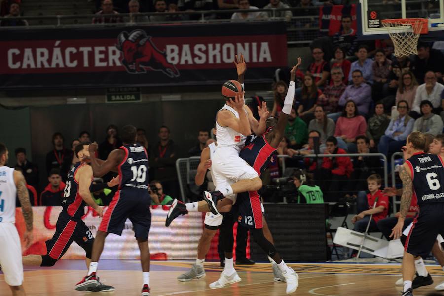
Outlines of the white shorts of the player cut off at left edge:
[[9,286],[23,283],[22,246],[15,225],[0,223],[0,265]]

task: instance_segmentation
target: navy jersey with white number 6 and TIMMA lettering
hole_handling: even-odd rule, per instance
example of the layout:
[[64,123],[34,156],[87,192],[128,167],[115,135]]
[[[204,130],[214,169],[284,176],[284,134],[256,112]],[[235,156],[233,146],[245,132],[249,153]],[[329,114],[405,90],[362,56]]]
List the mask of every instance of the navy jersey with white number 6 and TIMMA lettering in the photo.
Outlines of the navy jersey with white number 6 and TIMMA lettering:
[[407,161],[418,206],[444,202],[444,167],[439,155],[419,152]]

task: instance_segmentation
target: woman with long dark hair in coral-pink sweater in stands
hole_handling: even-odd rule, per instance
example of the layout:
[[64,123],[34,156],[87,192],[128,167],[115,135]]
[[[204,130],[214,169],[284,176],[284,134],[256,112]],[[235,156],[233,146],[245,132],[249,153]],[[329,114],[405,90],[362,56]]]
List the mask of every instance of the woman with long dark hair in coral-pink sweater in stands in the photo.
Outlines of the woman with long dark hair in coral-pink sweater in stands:
[[356,137],[365,135],[367,131],[366,119],[359,115],[355,102],[348,100],[344,111],[336,122],[334,136],[337,138],[339,148],[347,150],[348,153],[356,153]]

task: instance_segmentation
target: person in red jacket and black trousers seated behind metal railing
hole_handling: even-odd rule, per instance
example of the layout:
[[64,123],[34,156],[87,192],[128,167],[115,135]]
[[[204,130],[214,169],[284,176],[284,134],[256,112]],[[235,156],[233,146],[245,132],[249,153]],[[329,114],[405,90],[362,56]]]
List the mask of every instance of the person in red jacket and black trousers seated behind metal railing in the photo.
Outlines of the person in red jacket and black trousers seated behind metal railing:
[[[337,139],[330,136],[326,140],[324,154],[346,154],[345,150],[337,146]],[[322,159],[321,170],[318,171],[316,180],[320,180],[320,187],[325,192],[324,201],[337,201],[341,188],[345,188],[347,179],[353,172],[353,164],[350,157],[324,157]]]

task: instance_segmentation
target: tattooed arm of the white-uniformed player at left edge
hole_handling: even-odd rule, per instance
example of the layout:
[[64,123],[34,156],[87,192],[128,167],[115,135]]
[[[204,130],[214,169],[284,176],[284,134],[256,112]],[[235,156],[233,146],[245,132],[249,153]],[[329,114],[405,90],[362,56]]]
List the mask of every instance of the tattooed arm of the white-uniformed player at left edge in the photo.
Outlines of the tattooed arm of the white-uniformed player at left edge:
[[19,171],[14,171],[14,182],[17,187],[17,196],[22,205],[23,218],[26,223],[26,232],[23,235],[23,239],[26,243],[26,248],[28,248],[33,242],[33,208],[31,207],[31,202],[29,201],[28,188],[26,188],[25,177]]

